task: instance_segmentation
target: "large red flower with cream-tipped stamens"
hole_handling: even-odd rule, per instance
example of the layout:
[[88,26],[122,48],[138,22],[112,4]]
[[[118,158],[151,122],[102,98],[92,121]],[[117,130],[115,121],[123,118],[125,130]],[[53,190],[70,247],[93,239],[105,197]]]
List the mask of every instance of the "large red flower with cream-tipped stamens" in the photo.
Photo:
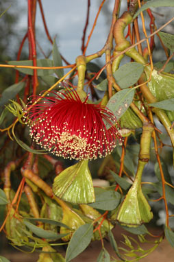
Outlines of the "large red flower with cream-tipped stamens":
[[[45,150],[76,160],[102,158],[122,141],[108,108],[82,102],[75,90],[51,92],[25,115],[29,134]],[[32,103],[38,97],[32,99]],[[110,125],[107,130],[106,124]]]

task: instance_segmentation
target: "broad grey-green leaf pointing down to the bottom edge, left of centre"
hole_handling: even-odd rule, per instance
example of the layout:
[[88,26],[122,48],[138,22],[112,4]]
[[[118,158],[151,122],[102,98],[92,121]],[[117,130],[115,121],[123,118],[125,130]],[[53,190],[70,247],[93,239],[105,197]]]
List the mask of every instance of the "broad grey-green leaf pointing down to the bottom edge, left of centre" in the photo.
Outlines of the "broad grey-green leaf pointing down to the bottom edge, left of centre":
[[73,237],[71,238],[66,251],[66,262],[71,261],[87,248],[92,239],[92,235],[92,224],[84,224],[73,233]]

